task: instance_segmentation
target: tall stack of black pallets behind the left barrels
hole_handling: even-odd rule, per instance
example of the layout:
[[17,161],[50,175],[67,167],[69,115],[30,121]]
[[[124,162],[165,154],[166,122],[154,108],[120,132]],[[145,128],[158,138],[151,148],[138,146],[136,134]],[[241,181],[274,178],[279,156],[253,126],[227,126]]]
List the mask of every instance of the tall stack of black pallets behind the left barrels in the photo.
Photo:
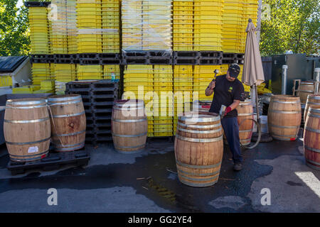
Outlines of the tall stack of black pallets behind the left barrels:
[[112,107],[119,96],[119,82],[109,79],[69,82],[65,93],[82,96],[87,118],[86,143],[97,145],[112,141]]

